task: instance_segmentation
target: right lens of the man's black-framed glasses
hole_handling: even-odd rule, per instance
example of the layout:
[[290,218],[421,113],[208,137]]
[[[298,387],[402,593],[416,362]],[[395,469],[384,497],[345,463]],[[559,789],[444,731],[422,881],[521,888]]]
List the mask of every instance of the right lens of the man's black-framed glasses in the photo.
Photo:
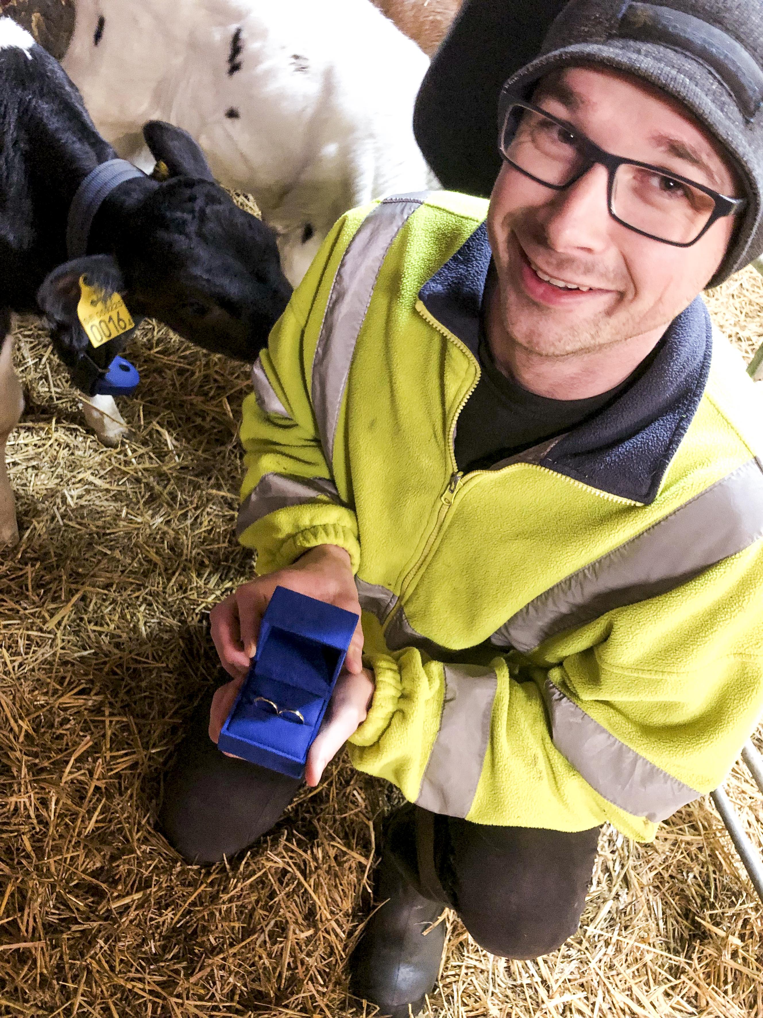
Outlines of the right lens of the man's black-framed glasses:
[[692,243],[714,210],[715,202],[709,194],[658,170],[623,163],[614,174],[612,214],[661,240]]

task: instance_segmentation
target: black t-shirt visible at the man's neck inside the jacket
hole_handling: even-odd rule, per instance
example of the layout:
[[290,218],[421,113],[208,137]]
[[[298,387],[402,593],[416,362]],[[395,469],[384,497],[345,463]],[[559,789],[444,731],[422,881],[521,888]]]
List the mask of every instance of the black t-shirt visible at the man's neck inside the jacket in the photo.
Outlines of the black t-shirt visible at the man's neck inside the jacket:
[[[659,343],[657,347],[659,347]],[[487,469],[545,439],[582,425],[625,392],[646,371],[657,347],[619,386],[588,399],[549,399],[524,389],[498,371],[484,329],[480,330],[481,375],[459,414],[456,463],[459,470]]]

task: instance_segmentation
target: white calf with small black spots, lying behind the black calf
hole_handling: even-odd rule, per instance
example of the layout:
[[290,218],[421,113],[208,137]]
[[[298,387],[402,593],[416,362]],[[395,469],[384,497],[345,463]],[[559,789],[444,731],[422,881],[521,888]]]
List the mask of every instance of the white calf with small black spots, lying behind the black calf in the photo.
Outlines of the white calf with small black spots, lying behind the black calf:
[[76,0],[63,66],[124,158],[145,120],[190,131],[294,285],[348,209],[436,185],[412,128],[428,60],[369,0]]

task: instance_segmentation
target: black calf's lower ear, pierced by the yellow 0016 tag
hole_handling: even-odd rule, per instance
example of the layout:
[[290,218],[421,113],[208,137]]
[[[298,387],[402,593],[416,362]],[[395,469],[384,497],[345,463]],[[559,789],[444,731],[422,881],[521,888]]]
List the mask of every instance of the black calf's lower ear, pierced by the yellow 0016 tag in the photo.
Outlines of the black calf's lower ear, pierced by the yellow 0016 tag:
[[[54,269],[46,278],[37,291],[38,306],[48,320],[54,346],[63,362],[69,366],[90,343],[77,317],[77,304],[81,295],[80,276],[85,276],[89,285],[102,290],[107,297],[124,289],[122,271],[111,254],[90,254],[74,259],[73,262],[66,262]],[[104,347],[99,347],[99,350],[104,350]],[[98,351],[93,352],[96,360],[97,353]],[[105,367],[106,364],[101,366]]]

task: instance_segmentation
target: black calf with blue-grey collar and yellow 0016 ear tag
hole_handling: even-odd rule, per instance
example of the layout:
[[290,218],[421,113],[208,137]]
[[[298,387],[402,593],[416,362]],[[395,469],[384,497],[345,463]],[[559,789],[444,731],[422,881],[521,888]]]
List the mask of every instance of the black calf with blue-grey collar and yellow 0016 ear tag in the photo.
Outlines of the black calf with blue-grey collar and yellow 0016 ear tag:
[[[273,233],[215,183],[190,135],[161,122],[146,124],[144,135],[169,179],[141,174],[120,183],[98,206],[83,256],[71,260],[66,235],[72,200],[116,153],[60,64],[23,29],[0,17],[3,462],[5,440],[21,411],[5,338],[10,310],[43,313],[57,351],[70,363],[90,349],[77,319],[79,278],[86,274],[107,294],[121,293],[133,318],[156,318],[212,352],[253,361],[288,302],[291,287]],[[113,441],[121,417],[110,396],[99,401],[100,408],[87,408],[89,419]],[[15,532],[12,505],[3,466],[0,541]]]

